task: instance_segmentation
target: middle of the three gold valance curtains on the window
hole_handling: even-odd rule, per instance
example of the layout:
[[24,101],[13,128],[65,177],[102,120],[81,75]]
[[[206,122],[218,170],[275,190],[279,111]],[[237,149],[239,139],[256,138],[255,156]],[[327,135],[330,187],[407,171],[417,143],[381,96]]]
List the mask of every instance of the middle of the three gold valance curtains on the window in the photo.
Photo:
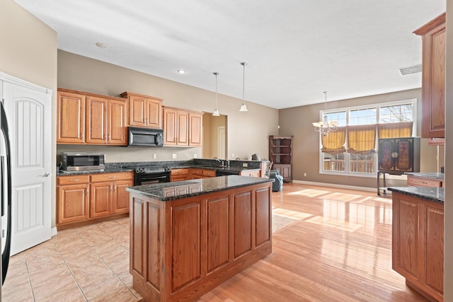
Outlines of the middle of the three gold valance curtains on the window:
[[376,146],[376,124],[348,126],[348,153],[367,155]]

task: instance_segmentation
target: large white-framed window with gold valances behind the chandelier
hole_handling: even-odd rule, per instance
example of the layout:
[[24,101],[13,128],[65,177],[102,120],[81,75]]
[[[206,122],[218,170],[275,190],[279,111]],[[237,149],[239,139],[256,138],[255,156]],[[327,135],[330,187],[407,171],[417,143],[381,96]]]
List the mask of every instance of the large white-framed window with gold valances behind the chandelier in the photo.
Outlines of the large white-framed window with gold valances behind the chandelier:
[[415,133],[416,100],[325,110],[338,130],[321,135],[320,173],[375,177],[377,139]]

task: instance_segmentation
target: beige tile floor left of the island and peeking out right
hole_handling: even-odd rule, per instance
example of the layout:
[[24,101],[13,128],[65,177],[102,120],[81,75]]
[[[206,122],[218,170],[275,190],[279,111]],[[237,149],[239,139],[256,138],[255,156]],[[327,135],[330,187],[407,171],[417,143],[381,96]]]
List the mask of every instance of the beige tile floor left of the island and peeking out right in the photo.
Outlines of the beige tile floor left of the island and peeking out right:
[[[273,212],[273,232],[300,219]],[[2,301],[139,301],[129,273],[129,223],[126,217],[59,231],[14,255]]]

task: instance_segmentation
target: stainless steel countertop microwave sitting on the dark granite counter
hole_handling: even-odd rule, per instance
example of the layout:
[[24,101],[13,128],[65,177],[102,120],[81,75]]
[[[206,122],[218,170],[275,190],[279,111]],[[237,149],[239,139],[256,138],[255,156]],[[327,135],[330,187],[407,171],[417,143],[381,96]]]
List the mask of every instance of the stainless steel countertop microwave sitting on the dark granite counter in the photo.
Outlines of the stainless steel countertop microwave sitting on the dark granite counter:
[[63,152],[60,156],[62,170],[86,171],[104,170],[105,154],[86,152]]

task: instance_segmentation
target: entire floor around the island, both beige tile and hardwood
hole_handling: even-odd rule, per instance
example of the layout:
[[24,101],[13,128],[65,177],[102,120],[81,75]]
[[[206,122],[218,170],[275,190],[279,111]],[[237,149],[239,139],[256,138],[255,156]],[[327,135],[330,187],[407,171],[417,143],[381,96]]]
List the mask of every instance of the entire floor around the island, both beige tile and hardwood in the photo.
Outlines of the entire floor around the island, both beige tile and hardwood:
[[[425,301],[391,269],[391,197],[285,184],[273,193],[273,252],[205,301]],[[139,301],[129,221],[59,231],[11,257],[1,301]]]

